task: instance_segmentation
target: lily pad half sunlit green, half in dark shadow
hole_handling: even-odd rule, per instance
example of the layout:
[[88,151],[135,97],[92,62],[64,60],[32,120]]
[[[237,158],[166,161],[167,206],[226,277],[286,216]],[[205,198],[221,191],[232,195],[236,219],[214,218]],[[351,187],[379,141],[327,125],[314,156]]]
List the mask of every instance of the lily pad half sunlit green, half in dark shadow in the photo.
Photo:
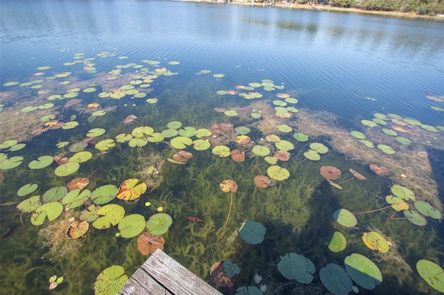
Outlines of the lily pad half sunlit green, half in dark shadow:
[[382,283],[381,271],[366,256],[352,253],[350,256],[345,257],[344,265],[350,278],[364,289],[374,289]]

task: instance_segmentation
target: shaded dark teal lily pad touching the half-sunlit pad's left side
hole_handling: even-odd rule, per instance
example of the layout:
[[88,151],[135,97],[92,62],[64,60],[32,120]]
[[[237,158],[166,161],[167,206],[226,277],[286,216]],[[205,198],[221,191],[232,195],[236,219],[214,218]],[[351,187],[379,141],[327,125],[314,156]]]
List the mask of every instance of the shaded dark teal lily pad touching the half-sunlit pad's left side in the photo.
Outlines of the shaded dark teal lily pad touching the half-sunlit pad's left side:
[[329,263],[321,268],[319,278],[321,278],[324,287],[333,294],[347,295],[352,291],[352,279],[343,267],[335,263]]

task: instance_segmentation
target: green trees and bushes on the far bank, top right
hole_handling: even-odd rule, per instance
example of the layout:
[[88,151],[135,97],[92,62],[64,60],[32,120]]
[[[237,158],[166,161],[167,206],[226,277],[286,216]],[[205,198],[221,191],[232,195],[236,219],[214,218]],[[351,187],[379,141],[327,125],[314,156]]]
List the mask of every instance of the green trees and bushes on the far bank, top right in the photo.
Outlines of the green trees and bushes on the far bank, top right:
[[[256,0],[258,1],[258,0]],[[264,0],[259,0],[260,2]],[[280,0],[275,0],[280,1]],[[323,4],[363,10],[415,12],[435,16],[444,13],[444,0],[284,0],[299,4]]]

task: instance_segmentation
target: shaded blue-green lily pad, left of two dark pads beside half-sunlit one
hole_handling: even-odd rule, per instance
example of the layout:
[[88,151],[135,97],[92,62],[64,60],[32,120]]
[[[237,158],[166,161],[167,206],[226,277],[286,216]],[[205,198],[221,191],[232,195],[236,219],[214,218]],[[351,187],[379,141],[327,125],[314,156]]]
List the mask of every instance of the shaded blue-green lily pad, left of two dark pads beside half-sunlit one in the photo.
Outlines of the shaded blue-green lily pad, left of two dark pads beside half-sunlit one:
[[298,253],[287,253],[281,256],[278,270],[288,280],[297,280],[299,283],[311,283],[315,271],[313,262]]

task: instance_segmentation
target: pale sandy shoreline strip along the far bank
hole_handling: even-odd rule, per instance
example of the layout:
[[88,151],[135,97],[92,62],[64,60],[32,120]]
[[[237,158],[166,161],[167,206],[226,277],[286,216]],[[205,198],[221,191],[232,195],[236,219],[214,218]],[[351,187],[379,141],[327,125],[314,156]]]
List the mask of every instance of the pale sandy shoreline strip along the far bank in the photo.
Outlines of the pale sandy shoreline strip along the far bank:
[[[216,3],[216,4],[226,4],[221,2],[214,2],[208,0],[176,0],[176,1],[188,1],[188,2],[200,2],[200,3]],[[243,6],[263,6],[262,3],[251,3],[251,2],[230,2],[230,4],[243,5]],[[268,6],[266,6],[268,7]],[[289,9],[301,9],[301,10],[314,10],[314,11],[326,11],[326,12],[345,12],[345,13],[355,13],[359,15],[374,15],[382,17],[393,17],[393,18],[403,18],[412,20],[425,20],[425,21],[444,21],[444,15],[431,17],[429,15],[416,15],[414,12],[395,12],[395,11],[381,11],[381,10],[363,10],[359,8],[342,8],[336,6],[311,6],[308,4],[295,4],[295,3],[280,3],[276,2],[271,7],[278,8],[289,8]]]

